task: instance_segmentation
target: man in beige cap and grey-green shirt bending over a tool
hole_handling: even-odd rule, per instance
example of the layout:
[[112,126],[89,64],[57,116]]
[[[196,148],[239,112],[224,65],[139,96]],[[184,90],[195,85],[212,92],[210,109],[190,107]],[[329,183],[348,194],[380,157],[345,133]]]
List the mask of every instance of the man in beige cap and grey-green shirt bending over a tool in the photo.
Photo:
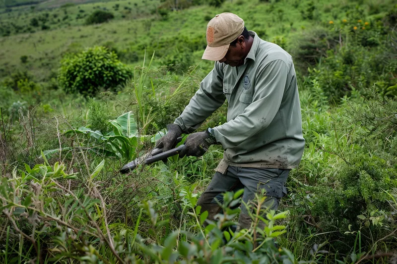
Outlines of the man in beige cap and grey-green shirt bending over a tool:
[[[193,133],[180,157],[202,156],[212,144],[223,146],[224,155],[198,205],[213,219],[220,211],[217,200],[227,191],[244,188],[249,204],[265,191],[265,205],[277,210],[286,194],[289,171],[303,154],[305,140],[296,74],[292,57],[279,46],[247,31],[235,14],[216,15],[207,25],[203,59],[215,61],[188,106],[160,139],[164,151],[173,148],[182,133],[192,133],[225,99],[227,122]],[[250,228],[243,205],[240,228]]]

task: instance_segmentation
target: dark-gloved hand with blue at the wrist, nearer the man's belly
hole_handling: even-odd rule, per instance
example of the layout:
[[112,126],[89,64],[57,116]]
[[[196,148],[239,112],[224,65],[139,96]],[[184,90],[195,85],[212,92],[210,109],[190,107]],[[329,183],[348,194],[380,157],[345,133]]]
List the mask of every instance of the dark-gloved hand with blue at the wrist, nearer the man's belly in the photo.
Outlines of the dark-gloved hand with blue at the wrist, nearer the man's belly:
[[185,147],[179,154],[179,158],[185,156],[200,157],[208,150],[209,146],[216,144],[215,137],[208,130],[193,133],[185,141]]

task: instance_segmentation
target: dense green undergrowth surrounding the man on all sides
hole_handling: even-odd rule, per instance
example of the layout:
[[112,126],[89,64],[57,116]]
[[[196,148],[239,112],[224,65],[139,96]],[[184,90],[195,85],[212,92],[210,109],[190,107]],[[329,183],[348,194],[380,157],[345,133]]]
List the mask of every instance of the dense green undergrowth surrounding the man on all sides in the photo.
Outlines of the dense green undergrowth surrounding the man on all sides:
[[[83,16],[87,11],[78,9],[102,4],[118,15],[98,28],[82,26],[85,18],[69,22],[67,30],[77,34],[94,32],[84,37],[90,40],[70,39],[66,49],[47,57],[29,54],[15,61],[14,54],[0,54],[12,65],[0,69],[0,263],[396,261],[397,6],[259,1],[255,8],[268,13],[265,20],[250,2],[222,2],[209,1],[219,5],[209,7],[162,1],[150,18],[132,20],[136,27],[128,32],[135,41],[124,46],[112,38],[96,43],[94,36],[127,23],[135,11],[124,6],[133,2],[42,10],[38,17],[48,12],[55,19],[65,10]],[[224,213],[201,227],[207,214],[195,206],[222,158],[219,146],[201,158],[172,157],[119,173],[153,148],[211,69],[198,58],[213,8],[238,13],[249,30],[286,49],[299,73],[306,148],[279,211],[266,212],[265,229],[257,225],[255,208],[251,229],[229,228],[241,193],[225,194]],[[7,12],[18,17],[12,12],[23,10]],[[18,23],[32,27],[30,19]],[[196,25],[204,30],[193,33]],[[160,36],[159,28],[169,35]],[[25,36],[18,34],[11,31],[0,42]],[[103,47],[94,47],[100,43]],[[91,49],[85,50],[87,45]],[[225,121],[226,105],[202,128]]]

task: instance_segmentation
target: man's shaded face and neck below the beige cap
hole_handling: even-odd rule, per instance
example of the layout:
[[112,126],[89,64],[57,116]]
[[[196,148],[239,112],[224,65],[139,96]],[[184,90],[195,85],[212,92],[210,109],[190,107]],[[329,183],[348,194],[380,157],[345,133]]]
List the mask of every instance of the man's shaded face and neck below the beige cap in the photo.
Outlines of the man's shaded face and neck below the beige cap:
[[254,38],[250,37],[245,39],[243,35],[237,38],[237,43],[235,46],[230,45],[227,50],[226,55],[219,60],[232,67],[238,67],[244,64],[244,60],[251,50],[252,44],[254,43]]

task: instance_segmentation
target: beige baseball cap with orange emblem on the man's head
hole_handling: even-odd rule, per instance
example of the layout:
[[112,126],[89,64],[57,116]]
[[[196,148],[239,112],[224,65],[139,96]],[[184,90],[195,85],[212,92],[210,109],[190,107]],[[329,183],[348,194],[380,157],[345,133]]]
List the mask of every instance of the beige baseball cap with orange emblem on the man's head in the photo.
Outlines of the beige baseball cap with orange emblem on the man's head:
[[221,13],[207,25],[207,48],[202,59],[221,60],[227,53],[230,43],[244,31],[244,20],[233,13]]

